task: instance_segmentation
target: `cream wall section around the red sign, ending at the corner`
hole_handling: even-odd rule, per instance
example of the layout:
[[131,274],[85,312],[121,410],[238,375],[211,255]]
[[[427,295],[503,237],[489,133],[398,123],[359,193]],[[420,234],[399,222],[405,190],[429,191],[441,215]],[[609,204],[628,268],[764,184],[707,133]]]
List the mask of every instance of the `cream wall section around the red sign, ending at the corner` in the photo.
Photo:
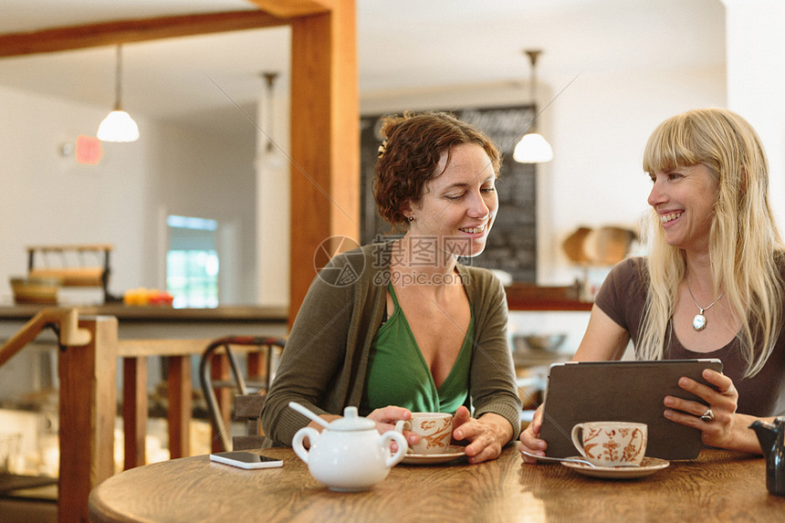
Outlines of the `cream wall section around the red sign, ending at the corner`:
[[111,288],[144,280],[152,173],[143,166],[154,158],[154,136],[105,144],[95,166],[59,152],[78,134],[94,136],[105,112],[0,88],[0,297],[10,300],[9,277],[25,275],[29,245],[114,244]]

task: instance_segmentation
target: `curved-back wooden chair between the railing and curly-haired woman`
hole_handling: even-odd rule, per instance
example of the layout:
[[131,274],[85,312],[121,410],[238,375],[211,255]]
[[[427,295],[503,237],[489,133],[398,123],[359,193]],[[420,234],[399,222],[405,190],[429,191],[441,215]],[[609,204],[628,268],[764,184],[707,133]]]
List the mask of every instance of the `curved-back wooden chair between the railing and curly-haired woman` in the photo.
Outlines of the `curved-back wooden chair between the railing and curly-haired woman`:
[[[267,386],[272,380],[273,357],[276,349],[283,350],[286,340],[282,338],[257,337],[257,336],[229,336],[213,341],[202,353],[199,361],[199,380],[202,384],[204,399],[207,402],[207,410],[210,414],[210,421],[213,424],[215,438],[213,440],[213,451],[221,452],[228,450],[240,450],[241,448],[258,448],[261,445],[263,435],[259,426],[259,416],[262,405],[267,394]],[[254,352],[249,352],[249,376],[246,378],[240,370],[235,352],[231,349],[233,345],[255,346]],[[215,357],[220,357],[217,350],[223,348],[229,368],[232,373],[232,380],[214,379],[213,361]],[[251,356],[257,354],[266,355],[266,365],[264,375],[259,376],[257,364]],[[222,405],[218,401],[215,391],[225,389],[238,392],[235,395],[234,413],[222,413]],[[225,405],[224,408],[228,408]],[[247,426],[246,436],[237,436],[232,441],[229,423],[226,420],[245,420]]]

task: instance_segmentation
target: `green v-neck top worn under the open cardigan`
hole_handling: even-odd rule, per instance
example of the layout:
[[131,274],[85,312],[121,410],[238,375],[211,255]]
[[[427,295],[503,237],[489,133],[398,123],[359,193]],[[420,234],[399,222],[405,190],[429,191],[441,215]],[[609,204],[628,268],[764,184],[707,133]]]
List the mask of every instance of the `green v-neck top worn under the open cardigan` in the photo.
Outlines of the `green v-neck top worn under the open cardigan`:
[[466,403],[469,393],[469,368],[475,338],[474,309],[453,369],[437,388],[409,322],[398,305],[393,286],[389,289],[395,310],[373,338],[362,393],[363,406],[369,411],[396,405],[412,412],[455,413]]

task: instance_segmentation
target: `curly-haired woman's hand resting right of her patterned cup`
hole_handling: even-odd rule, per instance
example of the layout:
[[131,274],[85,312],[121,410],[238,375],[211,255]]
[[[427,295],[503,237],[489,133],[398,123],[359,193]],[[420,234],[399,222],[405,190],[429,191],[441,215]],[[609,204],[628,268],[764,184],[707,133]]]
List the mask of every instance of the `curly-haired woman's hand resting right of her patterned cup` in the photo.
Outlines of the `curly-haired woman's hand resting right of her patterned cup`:
[[496,413],[485,413],[475,419],[462,405],[453,415],[453,439],[470,442],[465,450],[471,464],[496,459],[511,437],[512,427],[507,418]]

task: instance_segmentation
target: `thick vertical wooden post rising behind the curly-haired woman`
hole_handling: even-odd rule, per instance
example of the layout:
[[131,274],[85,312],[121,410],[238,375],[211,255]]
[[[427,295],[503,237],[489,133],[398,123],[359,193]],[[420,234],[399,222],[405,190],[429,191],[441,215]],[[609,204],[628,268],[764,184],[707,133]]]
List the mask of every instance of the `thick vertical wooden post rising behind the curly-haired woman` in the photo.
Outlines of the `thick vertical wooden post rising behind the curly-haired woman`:
[[[316,276],[314,254],[360,237],[360,95],[354,0],[292,19],[289,325]],[[330,255],[335,254],[330,248]]]

